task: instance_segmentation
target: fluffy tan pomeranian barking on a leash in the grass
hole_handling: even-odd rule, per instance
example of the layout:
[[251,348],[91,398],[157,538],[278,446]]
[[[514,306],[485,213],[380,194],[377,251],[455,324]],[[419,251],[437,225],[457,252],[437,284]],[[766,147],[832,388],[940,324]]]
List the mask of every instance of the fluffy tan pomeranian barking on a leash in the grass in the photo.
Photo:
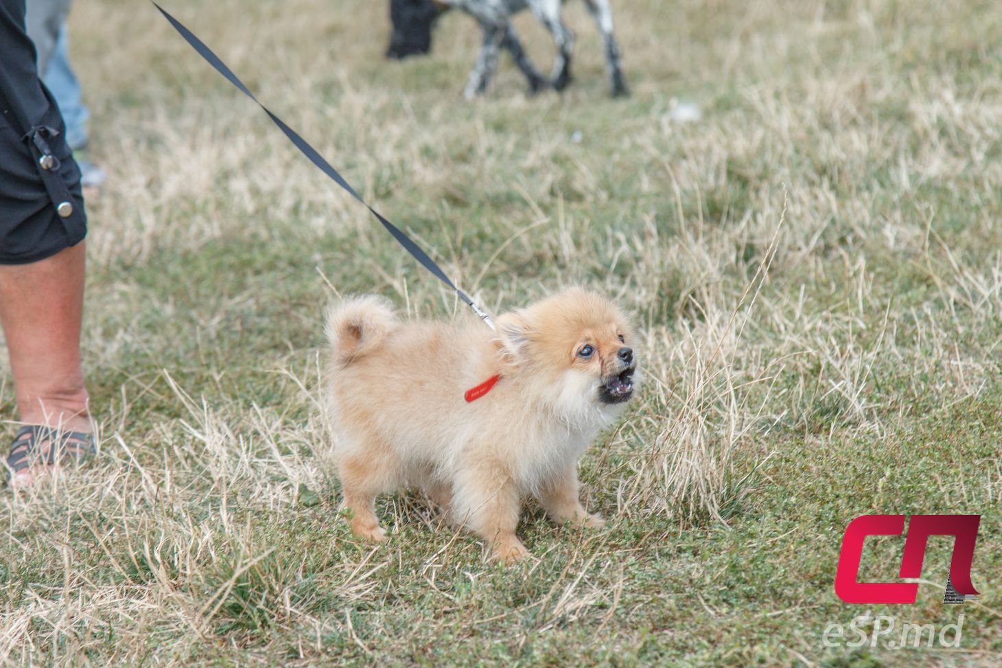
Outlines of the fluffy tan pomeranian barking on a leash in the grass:
[[378,297],[328,314],[328,403],[352,531],[383,541],[376,495],[419,486],[495,561],[525,558],[522,499],[555,522],[601,527],[577,460],[638,382],[629,321],[571,288],[482,323],[402,323]]

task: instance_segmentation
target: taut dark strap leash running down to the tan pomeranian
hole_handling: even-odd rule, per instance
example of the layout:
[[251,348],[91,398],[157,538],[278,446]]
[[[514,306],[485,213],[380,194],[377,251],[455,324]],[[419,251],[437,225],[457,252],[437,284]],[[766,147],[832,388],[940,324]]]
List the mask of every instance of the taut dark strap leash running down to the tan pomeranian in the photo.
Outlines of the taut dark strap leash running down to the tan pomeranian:
[[445,275],[445,272],[443,272],[442,269],[438,265],[436,265],[431,258],[428,257],[427,253],[422,251],[421,248],[417,244],[415,244],[410,237],[408,237],[399,229],[397,229],[397,226],[395,226],[393,223],[383,218],[383,216],[378,211],[370,207],[369,204],[365,200],[363,200],[358,193],[355,192],[355,189],[349,186],[348,182],[345,181],[340,174],[338,174],[338,171],[335,170],[333,166],[331,166],[331,163],[328,162],[326,159],[324,159],[323,155],[317,152],[316,148],[311,146],[306,139],[304,139],[296,132],[296,130],[287,125],[285,121],[282,120],[282,118],[272,113],[272,111],[267,106],[262,104],[261,101],[254,96],[254,93],[252,93],[247,89],[247,87],[243,85],[243,82],[240,81],[238,78],[236,78],[236,75],[233,74],[228,67],[226,67],[226,64],[222,62],[222,60],[220,60],[217,55],[212,53],[212,50],[207,46],[205,46],[205,44],[200,39],[194,36],[194,33],[185,28],[177,19],[168,14],[163,9],[163,7],[160,7],[158,4],[156,4],[156,2],[153,2],[153,0],[150,0],[150,2],[153,3],[154,7],[160,10],[160,13],[163,14],[163,17],[170,22],[170,25],[174,26],[174,30],[180,33],[181,37],[183,37],[187,41],[187,43],[191,45],[191,48],[193,48],[195,51],[198,52],[198,55],[200,55],[202,58],[208,61],[208,64],[214,67],[215,70],[219,72],[219,74],[222,74],[224,77],[226,77],[226,79],[228,79],[230,83],[239,88],[244,95],[246,95],[254,101],[258,102],[258,105],[261,108],[265,109],[265,113],[267,113],[269,117],[273,121],[275,121],[275,124],[279,126],[279,129],[281,129],[283,132],[286,133],[286,136],[289,137],[289,140],[292,141],[294,144],[296,144],[296,147],[302,150],[303,154],[309,157],[311,162],[316,164],[321,172],[330,177],[336,184],[338,184],[343,189],[348,191],[348,193],[353,198],[355,198],[363,205],[365,205],[366,209],[372,212],[372,215],[375,216],[377,219],[379,219],[379,222],[383,224],[383,227],[386,228],[391,235],[393,235],[394,239],[400,242],[400,245],[403,246],[408,253],[413,255],[414,258],[418,262],[420,262],[425,269],[434,274],[436,278],[438,278],[438,280],[442,281],[447,286],[452,288],[456,292],[457,297],[459,297],[466,303],[467,306],[473,309],[473,312],[476,313],[478,316],[480,316],[480,319],[483,320],[488,327],[494,329],[494,322],[490,319],[490,316],[484,313],[484,311],[481,310],[479,306],[474,304],[473,300],[470,299],[465,292],[457,288],[453,284],[453,282],[449,280],[449,277]]

